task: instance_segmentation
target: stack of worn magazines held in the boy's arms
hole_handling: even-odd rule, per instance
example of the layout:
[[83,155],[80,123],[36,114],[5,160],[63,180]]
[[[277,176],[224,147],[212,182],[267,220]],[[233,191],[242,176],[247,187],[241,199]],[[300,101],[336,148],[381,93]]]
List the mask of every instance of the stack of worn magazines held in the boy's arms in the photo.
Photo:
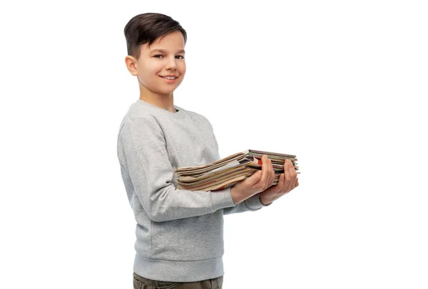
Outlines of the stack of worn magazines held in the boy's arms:
[[274,186],[284,172],[285,159],[290,159],[296,171],[299,169],[296,166],[297,159],[295,155],[247,149],[244,152],[231,154],[224,159],[203,166],[175,169],[178,189],[215,191],[231,187],[262,169],[261,159],[263,154],[266,154],[267,158],[272,162],[272,167],[275,171]]

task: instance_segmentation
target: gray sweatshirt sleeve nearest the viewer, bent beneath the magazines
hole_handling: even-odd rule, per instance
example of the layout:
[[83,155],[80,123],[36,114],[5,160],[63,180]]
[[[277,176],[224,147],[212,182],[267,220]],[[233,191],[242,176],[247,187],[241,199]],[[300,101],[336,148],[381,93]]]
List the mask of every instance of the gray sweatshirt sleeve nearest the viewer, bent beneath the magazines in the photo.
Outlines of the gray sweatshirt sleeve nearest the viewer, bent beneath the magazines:
[[173,184],[165,138],[155,120],[129,117],[123,122],[119,154],[134,193],[152,221],[170,221],[210,214],[233,204],[230,188],[187,191]]

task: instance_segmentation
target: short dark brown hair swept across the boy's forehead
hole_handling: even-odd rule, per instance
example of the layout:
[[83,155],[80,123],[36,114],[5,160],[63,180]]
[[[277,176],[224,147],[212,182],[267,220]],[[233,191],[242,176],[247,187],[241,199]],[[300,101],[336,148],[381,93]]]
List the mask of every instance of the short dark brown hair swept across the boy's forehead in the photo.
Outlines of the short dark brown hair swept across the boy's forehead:
[[157,38],[174,31],[180,31],[183,34],[184,43],[187,41],[187,33],[184,28],[170,16],[159,13],[133,16],[123,29],[128,56],[140,58],[140,48],[143,44],[148,43],[150,46]]

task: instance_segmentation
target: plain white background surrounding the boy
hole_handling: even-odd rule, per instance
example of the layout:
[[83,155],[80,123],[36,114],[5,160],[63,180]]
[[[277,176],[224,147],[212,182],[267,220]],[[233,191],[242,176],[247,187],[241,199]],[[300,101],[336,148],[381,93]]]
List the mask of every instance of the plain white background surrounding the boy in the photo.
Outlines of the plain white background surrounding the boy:
[[225,216],[224,289],[428,288],[424,1],[11,1],[0,6],[0,288],[132,288],[116,157],[138,99],[123,27],[188,32],[175,105],[220,156],[296,154],[300,186]]

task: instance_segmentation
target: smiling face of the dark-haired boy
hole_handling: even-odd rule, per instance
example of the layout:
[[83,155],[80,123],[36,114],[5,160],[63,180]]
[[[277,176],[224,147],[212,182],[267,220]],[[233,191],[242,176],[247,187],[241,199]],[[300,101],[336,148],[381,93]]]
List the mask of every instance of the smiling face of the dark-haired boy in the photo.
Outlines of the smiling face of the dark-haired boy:
[[174,31],[158,38],[151,46],[141,46],[136,61],[140,85],[158,95],[170,95],[183,81],[185,75],[184,38]]

